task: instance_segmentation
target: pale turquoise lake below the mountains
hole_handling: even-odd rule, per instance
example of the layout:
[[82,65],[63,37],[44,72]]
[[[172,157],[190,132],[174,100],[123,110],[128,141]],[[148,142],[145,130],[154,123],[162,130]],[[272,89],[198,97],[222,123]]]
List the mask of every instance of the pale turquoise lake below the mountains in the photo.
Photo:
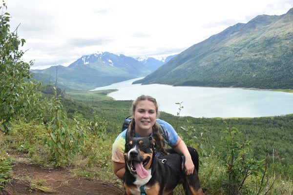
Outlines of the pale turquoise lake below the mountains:
[[118,89],[108,96],[116,100],[134,100],[144,94],[158,101],[159,111],[191,117],[269,117],[293,114],[293,93],[239,88],[131,84],[131,79],[98,87],[92,91]]

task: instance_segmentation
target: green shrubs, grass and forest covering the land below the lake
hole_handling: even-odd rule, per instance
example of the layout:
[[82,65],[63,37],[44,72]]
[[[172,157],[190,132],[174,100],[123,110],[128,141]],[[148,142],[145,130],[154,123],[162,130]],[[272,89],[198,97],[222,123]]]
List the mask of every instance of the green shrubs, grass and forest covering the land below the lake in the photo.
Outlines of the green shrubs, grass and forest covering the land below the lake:
[[[61,112],[59,115],[63,115],[63,117],[60,117],[59,123],[64,128],[57,128],[58,122],[52,119],[47,121],[46,125],[43,125],[42,121],[16,120],[8,134],[0,134],[2,143],[6,146],[3,148],[12,148],[13,153],[26,156],[32,164],[74,166],[77,176],[104,179],[113,185],[121,186],[121,181],[112,172],[111,146],[121,132],[121,125],[125,117],[130,114],[132,101],[112,100],[103,95],[105,91],[86,92],[85,94],[82,98],[81,94],[76,93],[75,100],[74,93],[71,93],[70,101],[74,101],[76,104],[70,105],[73,107],[78,105],[81,112],[88,112],[86,115],[89,116],[88,118],[76,113],[76,110],[69,104],[68,108],[62,106],[60,102],[59,107],[51,104],[52,108],[58,107],[58,109],[51,111],[50,116],[53,117]],[[101,98],[99,98],[100,96]],[[102,98],[103,96],[104,98]],[[51,95],[51,98],[54,99],[54,96]],[[61,99],[64,100],[64,98]],[[89,106],[92,106],[92,109],[89,109]],[[184,109],[181,104],[180,109]],[[64,110],[74,113],[65,113]],[[67,115],[73,117],[67,118]],[[100,118],[100,120],[105,118],[106,120],[106,123],[94,122],[97,124],[96,127],[101,127],[101,131],[98,130],[97,134],[93,134],[94,131],[91,129],[92,118]],[[293,191],[292,115],[222,119],[180,117],[162,112],[160,118],[167,120],[174,127],[178,123],[180,136],[188,145],[197,148],[201,162],[199,174],[202,185],[209,189],[208,195],[227,195],[230,191],[230,194],[236,194],[238,189],[242,194],[257,194],[258,191],[261,192],[260,194],[265,194],[264,192],[271,186],[272,195],[278,194],[280,190],[283,194],[288,195]],[[63,149],[63,146],[42,145],[43,140],[51,139],[51,135],[47,131],[48,128],[53,127],[58,132],[55,137],[59,137],[60,140],[68,131],[76,131],[77,127],[80,130],[83,129],[84,139],[81,139],[83,144],[75,144],[77,148],[70,153],[71,158],[68,156],[56,158],[51,155],[53,151],[55,151],[54,154],[58,153],[58,147]],[[249,129],[251,131],[248,131]],[[284,138],[285,140],[283,140]],[[61,143],[63,142],[61,141]],[[70,151],[71,148],[67,149]],[[273,149],[277,153],[273,152]],[[11,149],[7,150],[7,153],[11,152]],[[245,165],[243,169],[242,165]],[[243,171],[240,172],[241,170]],[[181,194],[180,188],[176,194]]]

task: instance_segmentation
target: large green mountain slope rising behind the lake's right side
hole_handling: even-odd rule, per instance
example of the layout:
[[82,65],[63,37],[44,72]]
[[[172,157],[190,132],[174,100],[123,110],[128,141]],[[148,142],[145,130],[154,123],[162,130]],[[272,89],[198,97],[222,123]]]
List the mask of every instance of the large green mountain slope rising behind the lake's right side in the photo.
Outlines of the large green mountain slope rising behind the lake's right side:
[[230,26],[135,83],[293,89],[293,8]]

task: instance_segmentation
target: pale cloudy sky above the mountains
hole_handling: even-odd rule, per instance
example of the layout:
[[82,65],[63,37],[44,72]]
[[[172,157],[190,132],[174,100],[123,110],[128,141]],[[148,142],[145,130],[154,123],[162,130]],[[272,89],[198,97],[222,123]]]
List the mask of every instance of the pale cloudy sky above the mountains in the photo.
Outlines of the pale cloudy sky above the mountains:
[[5,0],[32,69],[68,66],[110,52],[160,59],[258,15],[282,15],[293,0]]

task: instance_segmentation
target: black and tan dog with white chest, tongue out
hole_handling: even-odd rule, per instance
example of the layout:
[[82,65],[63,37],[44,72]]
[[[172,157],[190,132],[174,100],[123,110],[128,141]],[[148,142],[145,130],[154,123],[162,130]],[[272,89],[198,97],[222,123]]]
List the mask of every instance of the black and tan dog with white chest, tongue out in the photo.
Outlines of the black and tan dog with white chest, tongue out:
[[[197,174],[198,168],[193,175],[186,176],[179,154],[169,154],[161,159],[155,156],[154,147],[152,137],[129,137],[126,140],[126,195],[172,195],[180,183],[183,184],[186,195],[204,195]],[[198,156],[192,160],[198,165]]]

